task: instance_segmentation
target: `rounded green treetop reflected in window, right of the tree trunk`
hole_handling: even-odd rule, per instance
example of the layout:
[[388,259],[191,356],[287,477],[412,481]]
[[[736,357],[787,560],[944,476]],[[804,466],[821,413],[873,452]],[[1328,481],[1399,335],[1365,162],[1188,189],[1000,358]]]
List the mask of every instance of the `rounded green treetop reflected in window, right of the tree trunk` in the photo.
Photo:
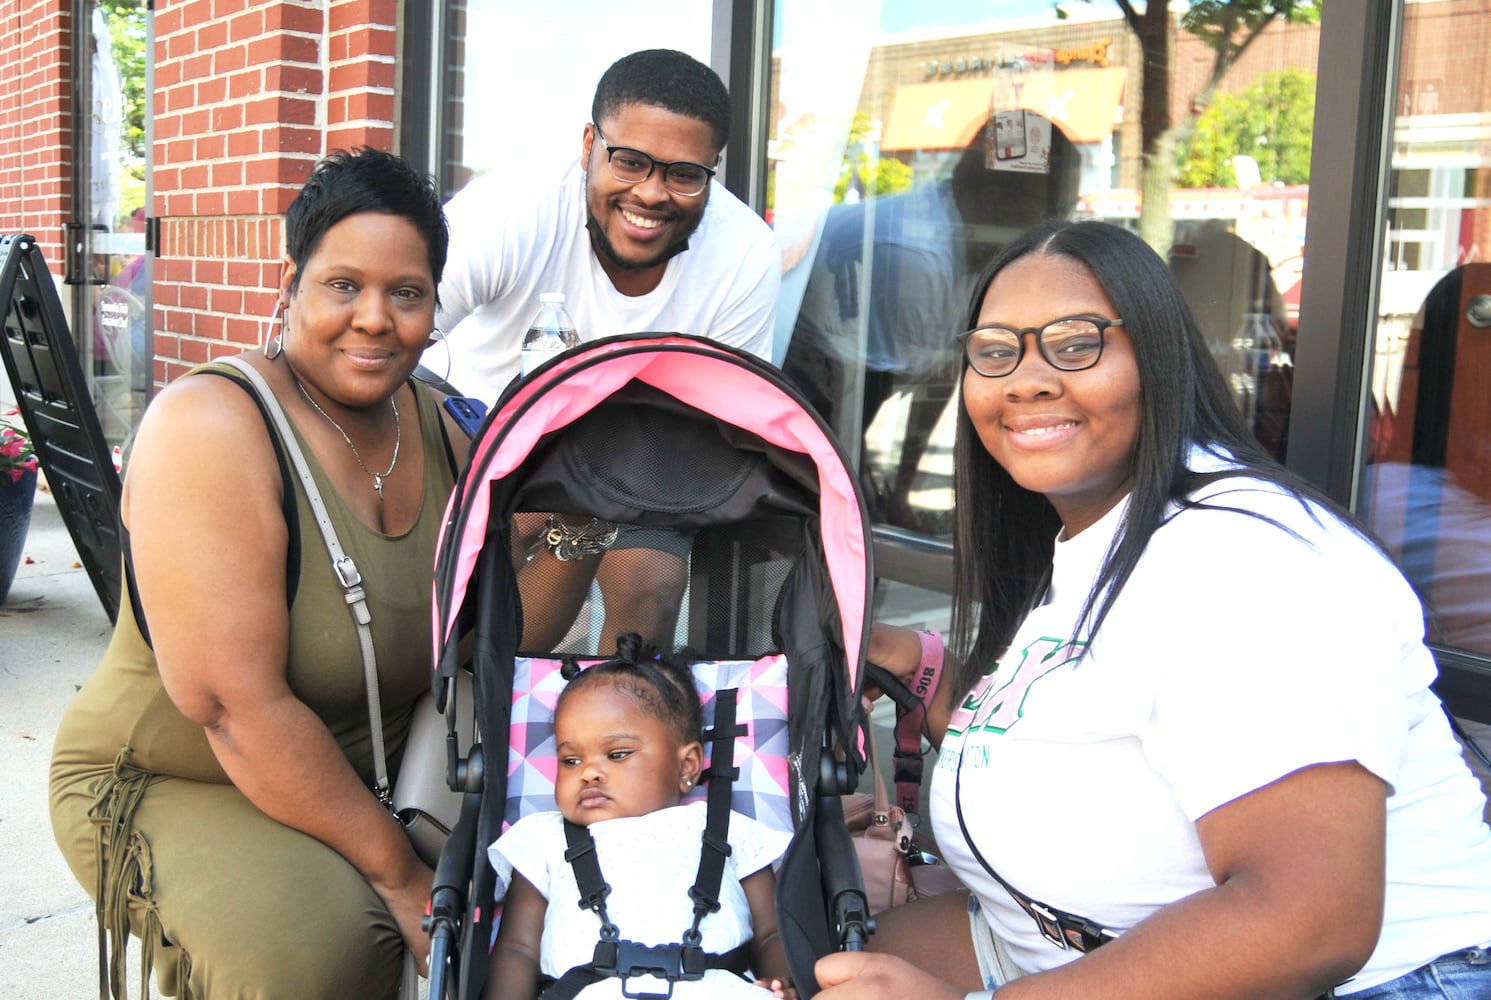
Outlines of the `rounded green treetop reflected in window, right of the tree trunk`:
[[1264,183],[1309,183],[1315,127],[1315,75],[1264,73],[1241,94],[1218,94],[1181,148],[1182,188],[1238,185],[1233,156],[1252,156]]

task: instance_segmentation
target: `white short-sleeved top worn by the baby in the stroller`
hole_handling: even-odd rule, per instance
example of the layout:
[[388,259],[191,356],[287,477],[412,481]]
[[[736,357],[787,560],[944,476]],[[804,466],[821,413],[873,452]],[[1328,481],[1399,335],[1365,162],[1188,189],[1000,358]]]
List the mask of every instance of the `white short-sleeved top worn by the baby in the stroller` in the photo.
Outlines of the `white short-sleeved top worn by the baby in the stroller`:
[[[705,817],[705,803],[692,802],[590,826],[601,878],[611,887],[605,911],[623,940],[668,945],[681,940],[692,925],[693,900],[689,899],[689,888],[699,872]],[[705,917],[699,925],[704,951],[711,954],[729,952],[751,939],[750,905],[741,879],[781,858],[792,835],[731,812],[726,839],[731,855],[725,860],[725,875],[720,879],[720,909]],[[561,976],[576,966],[587,964],[601,939],[601,921],[595,911],[580,909],[574,866],[564,860],[567,846],[564,817],[558,812],[534,812],[508,827],[488,848],[502,894],[516,869],[549,900],[538,952],[546,976]],[[629,988],[632,993],[666,991],[666,984],[646,976],[632,979]],[[619,997],[620,979],[601,981],[580,996]],[[760,1000],[763,994],[760,987],[753,987],[734,973],[711,969],[699,982],[675,984],[672,996],[738,996]]]

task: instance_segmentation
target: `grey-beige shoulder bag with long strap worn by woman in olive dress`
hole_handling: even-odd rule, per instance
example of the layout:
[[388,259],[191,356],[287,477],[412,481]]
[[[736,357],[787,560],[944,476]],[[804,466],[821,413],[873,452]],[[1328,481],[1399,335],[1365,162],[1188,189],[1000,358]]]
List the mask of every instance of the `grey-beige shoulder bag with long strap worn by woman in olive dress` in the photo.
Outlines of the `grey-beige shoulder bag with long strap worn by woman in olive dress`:
[[274,390],[270,389],[264,377],[240,358],[225,358],[225,364],[240,371],[256,389],[264,410],[274,420],[280,441],[294,465],[310,510],[316,514],[316,526],[321,529],[327,553],[331,556],[331,568],[341,584],[352,613],[352,626],[358,633],[358,648],[362,651],[364,686],[368,696],[368,729],[373,741],[373,793],[379,802],[389,808],[394,817],[404,827],[410,844],[419,858],[434,867],[440,860],[440,851],[446,845],[450,829],[461,815],[461,794],[450,788],[446,781],[446,738],[456,735],[456,751],[465,753],[471,747],[471,735],[476,732],[471,711],[471,675],[467,671],[456,671],[455,697],[456,723],[452,727],[444,714],[435,709],[434,692],[420,694],[414,702],[414,712],[409,723],[409,739],[404,742],[404,759],[400,765],[398,787],[389,788],[388,754],[383,747],[383,708],[377,690],[377,657],[373,651],[373,614],[368,611],[367,592],[362,589],[362,575],[356,563],[341,548],[337,531],[331,525],[327,513],[327,502],[316,487],[316,478],[310,474],[310,466],[300,449],[295,432],[291,429],[285,410],[280,408]]

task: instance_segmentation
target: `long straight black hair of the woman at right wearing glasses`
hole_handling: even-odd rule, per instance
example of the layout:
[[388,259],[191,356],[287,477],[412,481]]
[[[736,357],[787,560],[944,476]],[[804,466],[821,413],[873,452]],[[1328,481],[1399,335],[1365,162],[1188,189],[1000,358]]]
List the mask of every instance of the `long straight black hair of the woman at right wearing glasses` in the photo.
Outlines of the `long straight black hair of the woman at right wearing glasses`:
[[[1275,483],[1302,504],[1318,504],[1370,538],[1349,511],[1281,466],[1257,444],[1169,268],[1133,232],[1105,222],[1048,222],[1027,230],[980,274],[968,329],[978,325],[984,295],[994,277],[1033,255],[1065,258],[1091,271],[1124,319],[1139,368],[1133,490],[1074,638],[1090,642],[1102,627],[1172,505],[1239,510],[1187,499],[1206,483],[1235,475]],[[966,370],[965,356],[965,374]],[[1235,468],[1191,471],[1185,458],[1197,444],[1224,452]],[[1021,487],[989,455],[962,393],[954,463],[951,648],[962,663],[957,690],[966,692],[1003,653],[1026,614],[1044,596],[1062,520],[1045,496]],[[1305,507],[1314,516],[1311,507]]]

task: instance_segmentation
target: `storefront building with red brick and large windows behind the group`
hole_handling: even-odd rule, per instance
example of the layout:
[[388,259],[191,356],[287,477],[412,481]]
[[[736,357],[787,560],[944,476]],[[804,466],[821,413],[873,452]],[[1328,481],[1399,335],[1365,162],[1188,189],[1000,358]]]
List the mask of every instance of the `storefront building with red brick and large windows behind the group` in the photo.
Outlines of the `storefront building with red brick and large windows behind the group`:
[[[830,286],[845,359],[832,413],[866,489],[893,484],[877,507],[877,608],[938,624],[951,387],[892,379],[887,392],[869,370],[868,310],[886,300],[877,282],[899,280],[895,261],[960,249],[966,274],[1012,224],[948,201],[902,212],[901,200],[878,222],[877,210],[912,189],[935,198],[981,151],[989,191],[1003,174],[1029,180],[1050,122],[1079,158],[1074,213],[1138,227],[1142,192],[1160,182],[1172,265],[1260,440],[1372,514],[1428,592],[1445,587],[1455,626],[1434,636],[1442,687],[1491,717],[1491,639],[1479,638],[1491,632],[1476,627],[1491,608],[1460,599],[1491,593],[1491,566],[1467,565],[1491,507],[1469,471],[1491,466],[1491,396],[1473,389],[1491,365],[1491,12],[1324,0],[1318,24],[1272,24],[1208,91],[1215,52],[1179,27],[1182,0],[1148,46],[1111,0],[1060,4],[1060,21],[1056,6],[0,0],[0,230],[39,238],[122,441],[157,387],[258,343],[283,210],[324,152],[395,149],[447,195],[504,164],[522,183],[579,152],[605,64],[641,45],[686,49],[731,86],[720,180],[784,249],[778,361],[804,295],[822,291],[814,268],[853,279]],[[1308,75],[1314,100],[1303,165],[1285,182],[1279,145],[1297,156],[1297,136],[1273,128],[1290,109],[1260,116],[1260,88],[1281,73]],[[1161,85],[1170,119],[1230,109],[1227,127],[1252,130],[1252,145],[1229,148],[1214,180],[1182,182],[1182,152],[1226,139],[1212,122],[1147,173],[1142,95]],[[845,227],[857,225],[857,256],[822,259],[825,221],[845,201],[862,207],[835,216],[848,222],[832,246],[853,246]]]

